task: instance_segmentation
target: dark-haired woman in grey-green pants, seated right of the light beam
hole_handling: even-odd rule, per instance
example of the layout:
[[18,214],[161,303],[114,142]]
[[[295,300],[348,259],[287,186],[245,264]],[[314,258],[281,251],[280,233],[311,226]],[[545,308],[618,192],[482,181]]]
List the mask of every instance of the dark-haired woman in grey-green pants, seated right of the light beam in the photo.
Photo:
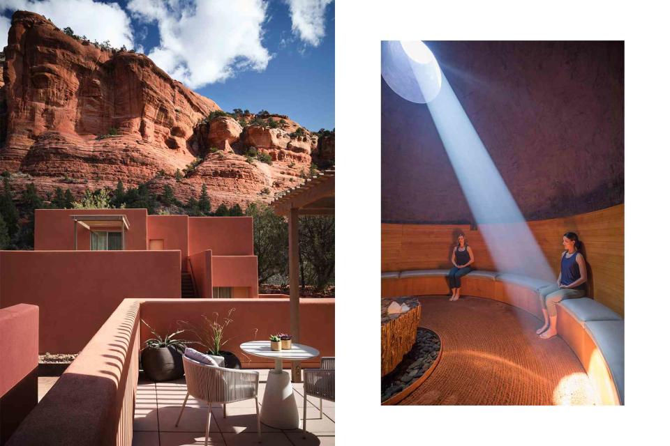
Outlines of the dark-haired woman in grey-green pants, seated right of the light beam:
[[586,295],[586,260],[579,252],[581,242],[574,232],[563,236],[565,251],[560,255],[558,285],[547,286],[539,291],[544,325],[537,330],[542,339],[556,336],[556,304],[563,299],[583,298]]

